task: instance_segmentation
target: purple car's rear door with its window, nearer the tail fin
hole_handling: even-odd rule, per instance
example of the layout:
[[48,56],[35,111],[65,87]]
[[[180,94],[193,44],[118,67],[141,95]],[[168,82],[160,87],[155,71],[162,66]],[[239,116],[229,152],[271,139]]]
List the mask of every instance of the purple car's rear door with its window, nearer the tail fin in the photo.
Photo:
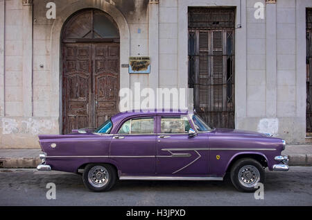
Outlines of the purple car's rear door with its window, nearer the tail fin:
[[113,135],[110,158],[121,176],[155,175],[155,117],[127,119]]

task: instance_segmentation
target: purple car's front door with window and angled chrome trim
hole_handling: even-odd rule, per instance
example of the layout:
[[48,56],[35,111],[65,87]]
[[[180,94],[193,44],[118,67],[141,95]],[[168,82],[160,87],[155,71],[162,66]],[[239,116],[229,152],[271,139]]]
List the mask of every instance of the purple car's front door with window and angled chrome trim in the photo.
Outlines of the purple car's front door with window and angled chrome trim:
[[208,137],[190,136],[187,115],[157,118],[156,173],[158,176],[207,176]]

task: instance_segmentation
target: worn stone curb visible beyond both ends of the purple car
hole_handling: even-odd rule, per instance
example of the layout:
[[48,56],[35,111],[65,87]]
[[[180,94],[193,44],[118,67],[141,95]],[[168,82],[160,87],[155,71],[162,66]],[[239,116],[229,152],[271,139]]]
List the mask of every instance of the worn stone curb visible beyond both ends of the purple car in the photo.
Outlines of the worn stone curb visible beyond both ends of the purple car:
[[[312,154],[293,154],[288,158],[290,166],[312,165]],[[0,168],[35,168],[40,163],[40,158],[0,158]]]

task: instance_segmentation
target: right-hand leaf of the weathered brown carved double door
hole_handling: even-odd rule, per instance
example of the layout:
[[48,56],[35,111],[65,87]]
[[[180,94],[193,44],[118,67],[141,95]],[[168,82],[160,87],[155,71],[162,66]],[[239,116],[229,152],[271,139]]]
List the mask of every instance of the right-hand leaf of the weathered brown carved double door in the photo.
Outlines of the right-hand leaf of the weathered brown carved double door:
[[119,44],[93,44],[94,126],[103,124],[118,110]]

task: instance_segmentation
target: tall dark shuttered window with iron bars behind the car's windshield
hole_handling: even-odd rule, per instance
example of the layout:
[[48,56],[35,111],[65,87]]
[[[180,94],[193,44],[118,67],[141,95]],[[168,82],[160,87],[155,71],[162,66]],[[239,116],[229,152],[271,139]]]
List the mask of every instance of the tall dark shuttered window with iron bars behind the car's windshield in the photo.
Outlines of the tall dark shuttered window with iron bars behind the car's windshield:
[[234,128],[234,23],[234,8],[189,8],[189,87],[216,127]]

